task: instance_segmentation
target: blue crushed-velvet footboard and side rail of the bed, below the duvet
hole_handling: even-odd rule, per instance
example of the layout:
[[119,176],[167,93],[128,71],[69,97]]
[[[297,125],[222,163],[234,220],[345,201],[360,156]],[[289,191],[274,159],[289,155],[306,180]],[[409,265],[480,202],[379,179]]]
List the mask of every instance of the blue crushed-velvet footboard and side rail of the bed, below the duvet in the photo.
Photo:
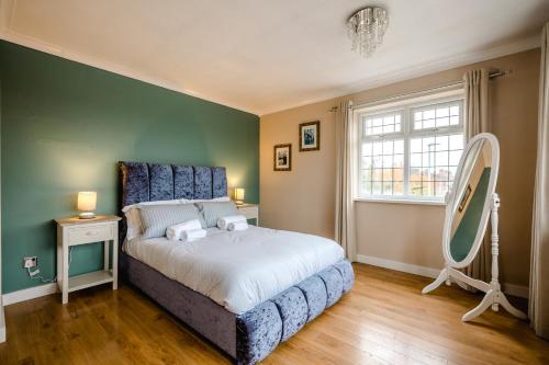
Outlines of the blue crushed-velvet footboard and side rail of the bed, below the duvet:
[[205,337],[237,364],[256,364],[350,290],[355,281],[346,260],[290,287],[243,315],[120,254],[121,276]]

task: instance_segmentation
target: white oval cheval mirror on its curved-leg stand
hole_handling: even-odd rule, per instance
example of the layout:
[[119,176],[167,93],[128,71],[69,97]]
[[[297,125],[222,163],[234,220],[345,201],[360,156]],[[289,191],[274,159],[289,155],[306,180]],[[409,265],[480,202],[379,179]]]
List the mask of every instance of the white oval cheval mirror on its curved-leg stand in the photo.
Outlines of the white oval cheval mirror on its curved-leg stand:
[[[500,305],[512,315],[526,319],[526,315],[513,307],[498,282],[497,258],[497,210],[500,197],[495,193],[497,172],[500,169],[500,144],[489,133],[474,136],[466,147],[453,185],[446,205],[446,219],[442,233],[442,253],[445,269],[436,281],[427,285],[422,293],[426,294],[442,283],[455,282],[467,288],[468,285],[485,293],[482,301],[463,315],[463,321],[480,316],[488,308],[497,311]],[[481,248],[488,224],[492,223],[492,281],[485,283],[467,276],[460,269],[469,266]]]

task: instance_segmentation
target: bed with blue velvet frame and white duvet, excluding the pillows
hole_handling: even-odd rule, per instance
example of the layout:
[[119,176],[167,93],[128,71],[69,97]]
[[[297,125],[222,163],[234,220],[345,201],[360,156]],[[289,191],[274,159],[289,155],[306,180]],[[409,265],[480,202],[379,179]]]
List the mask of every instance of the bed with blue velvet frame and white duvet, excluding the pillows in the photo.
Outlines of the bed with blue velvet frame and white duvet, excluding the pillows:
[[[224,168],[121,162],[120,207],[227,195]],[[209,229],[181,244],[156,238],[125,240],[121,277],[228,354],[256,364],[354,283],[350,263],[332,240],[253,227]]]

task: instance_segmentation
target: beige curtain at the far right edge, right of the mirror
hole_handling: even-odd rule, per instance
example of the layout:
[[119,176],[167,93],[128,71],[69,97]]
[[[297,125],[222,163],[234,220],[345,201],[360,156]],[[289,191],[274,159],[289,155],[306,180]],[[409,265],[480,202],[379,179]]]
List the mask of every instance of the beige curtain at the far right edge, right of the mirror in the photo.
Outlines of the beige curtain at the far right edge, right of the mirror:
[[549,23],[541,34],[538,158],[530,259],[531,327],[536,334],[549,339]]

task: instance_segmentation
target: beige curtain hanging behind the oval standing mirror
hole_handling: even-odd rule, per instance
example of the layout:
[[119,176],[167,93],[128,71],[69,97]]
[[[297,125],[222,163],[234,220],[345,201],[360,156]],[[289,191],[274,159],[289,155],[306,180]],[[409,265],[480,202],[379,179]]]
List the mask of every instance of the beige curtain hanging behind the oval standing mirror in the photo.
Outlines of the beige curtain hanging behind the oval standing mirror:
[[[466,91],[466,142],[479,133],[490,132],[489,71],[486,69],[470,70],[463,75]],[[479,254],[464,269],[468,276],[490,283],[492,280],[492,242],[490,227],[484,235]],[[473,288],[471,288],[473,289]]]

